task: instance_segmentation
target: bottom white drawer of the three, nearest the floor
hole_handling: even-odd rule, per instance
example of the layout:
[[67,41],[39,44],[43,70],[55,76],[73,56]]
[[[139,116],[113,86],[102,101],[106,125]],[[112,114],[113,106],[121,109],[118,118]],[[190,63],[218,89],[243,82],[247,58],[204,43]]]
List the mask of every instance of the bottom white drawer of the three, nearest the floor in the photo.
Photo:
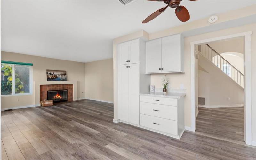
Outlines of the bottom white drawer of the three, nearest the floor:
[[140,114],[140,125],[165,133],[178,135],[177,121]]

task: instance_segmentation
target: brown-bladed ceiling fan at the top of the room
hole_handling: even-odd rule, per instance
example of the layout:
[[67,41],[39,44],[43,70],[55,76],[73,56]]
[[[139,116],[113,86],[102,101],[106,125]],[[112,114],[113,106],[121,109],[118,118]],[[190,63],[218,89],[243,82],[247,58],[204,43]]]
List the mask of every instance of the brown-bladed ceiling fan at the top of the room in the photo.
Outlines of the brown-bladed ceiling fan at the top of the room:
[[[182,0],[147,0],[147,1],[158,1],[158,2],[164,2],[167,4],[166,7],[160,8],[156,12],[152,13],[150,16],[148,16],[145,20],[143,20],[142,23],[148,23],[150,20],[153,20],[157,16],[159,16],[161,13],[163,13],[166,8],[171,7],[171,8],[176,8],[175,9],[175,14],[178,17],[178,19],[182,22],[186,22],[189,20],[189,12],[187,8],[184,6],[180,5],[180,2]],[[189,1],[197,1],[197,0],[189,0]]]

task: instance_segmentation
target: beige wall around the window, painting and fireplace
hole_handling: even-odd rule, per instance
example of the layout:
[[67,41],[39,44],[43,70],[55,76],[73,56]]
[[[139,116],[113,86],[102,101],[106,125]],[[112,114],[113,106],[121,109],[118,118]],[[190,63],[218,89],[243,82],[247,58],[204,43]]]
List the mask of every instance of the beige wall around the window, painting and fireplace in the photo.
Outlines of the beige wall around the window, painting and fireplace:
[[[33,81],[46,81],[46,69],[66,70],[67,80],[77,81],[77,98],[85,97],[85,63],[3,51],[1,54],[2,60],[33,63]],[[34,94],[8,96],[1,99],[1,109],[34,105]]]

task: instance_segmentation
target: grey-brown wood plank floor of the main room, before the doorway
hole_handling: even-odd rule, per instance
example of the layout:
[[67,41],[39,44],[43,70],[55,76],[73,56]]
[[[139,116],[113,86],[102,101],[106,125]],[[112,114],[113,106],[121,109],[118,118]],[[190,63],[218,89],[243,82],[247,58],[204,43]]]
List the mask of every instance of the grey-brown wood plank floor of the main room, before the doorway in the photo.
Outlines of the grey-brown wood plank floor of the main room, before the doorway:
[[177,140],[114,124],[113,105],[92,100],[6,111],[1,118],[2,159],[256,159],[256,148],[200,132]]

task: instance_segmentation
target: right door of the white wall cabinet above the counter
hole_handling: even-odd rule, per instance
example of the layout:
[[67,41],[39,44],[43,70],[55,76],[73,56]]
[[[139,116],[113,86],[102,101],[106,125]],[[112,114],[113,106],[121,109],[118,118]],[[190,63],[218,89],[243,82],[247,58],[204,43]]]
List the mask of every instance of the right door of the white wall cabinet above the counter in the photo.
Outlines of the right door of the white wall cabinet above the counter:
[[180,35],[162,38],[162,72],[181,71]]

